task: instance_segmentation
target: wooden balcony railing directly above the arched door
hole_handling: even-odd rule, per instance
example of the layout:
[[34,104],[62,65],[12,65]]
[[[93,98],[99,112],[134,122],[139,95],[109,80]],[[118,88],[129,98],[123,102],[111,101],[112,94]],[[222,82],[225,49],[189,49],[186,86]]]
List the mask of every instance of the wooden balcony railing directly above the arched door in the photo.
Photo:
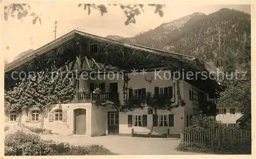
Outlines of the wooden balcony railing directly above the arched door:
[[119,102],[119,93],[100,93],[100,94],[95,94],[93,92],[90,93],[77,93],[77,101],[78,102],[104,102],[104,101],[112,101],[114,103]]

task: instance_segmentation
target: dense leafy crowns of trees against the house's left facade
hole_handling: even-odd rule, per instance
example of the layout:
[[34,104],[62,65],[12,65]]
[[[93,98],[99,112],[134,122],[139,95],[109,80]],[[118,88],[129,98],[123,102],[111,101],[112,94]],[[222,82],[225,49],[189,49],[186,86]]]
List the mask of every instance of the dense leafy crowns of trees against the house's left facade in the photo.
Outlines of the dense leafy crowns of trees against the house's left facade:
[[5,92],[5,110],[20,113],[36,107],[44,112],[51,109],[52,104],[69,101],[74,94],[75,89],[68,76],[62,79],[61,72],[56,68],[42,69]]

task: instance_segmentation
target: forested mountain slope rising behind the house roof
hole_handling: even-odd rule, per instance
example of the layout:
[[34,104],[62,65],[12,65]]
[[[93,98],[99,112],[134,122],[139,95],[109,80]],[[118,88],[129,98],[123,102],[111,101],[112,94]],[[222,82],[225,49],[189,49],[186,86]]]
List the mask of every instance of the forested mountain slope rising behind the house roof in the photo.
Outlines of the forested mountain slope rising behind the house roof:
[[209,15],[193,13],[119,40],[193,56],[206,67],[243,70],[250,67],[250,25],[249,14],[224,8]]

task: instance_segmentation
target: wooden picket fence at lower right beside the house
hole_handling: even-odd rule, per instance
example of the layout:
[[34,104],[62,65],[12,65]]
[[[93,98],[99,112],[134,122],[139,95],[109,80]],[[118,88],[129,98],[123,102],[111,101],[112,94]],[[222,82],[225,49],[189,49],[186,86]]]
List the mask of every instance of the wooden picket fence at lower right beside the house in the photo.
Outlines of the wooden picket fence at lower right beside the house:
[[181,129],[181,142],[189,144],[202,144],[211,148],[250,146],[251,131],[225,128],[225,129],[195,129],[185,127]]

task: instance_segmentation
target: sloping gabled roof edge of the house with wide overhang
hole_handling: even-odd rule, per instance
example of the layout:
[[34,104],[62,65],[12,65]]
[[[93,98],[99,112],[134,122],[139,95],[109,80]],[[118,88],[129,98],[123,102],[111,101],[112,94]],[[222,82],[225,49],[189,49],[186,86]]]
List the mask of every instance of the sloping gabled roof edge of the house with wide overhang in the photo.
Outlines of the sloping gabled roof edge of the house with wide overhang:
[[52,51],[53,49],[56,49],[56,48],[60,47],[61,45],[65,44],[68,41],[73,40],[77,37],[91,38],[91,39],[94,39],[97,41],[108,42],[108,43],[120,45],[120,46],[127,47],[127,48],[132,48],[132,49],[136,49],[136,50],[140,50],[140,51],[149,52],[149,53],[155,54],[155,55],[172,57],[173,59],[177,59],[178,61],[181,61],[183,64],[185,63],[187,66],[189,66],[191,68],[195,67],[197,70],[199,68],[201,71],[207,71],[207,69],[198,61],[198,59],[191,57],[191,56],[176,54],[174,52],[168,52],[168,51],[164,51],[164,50],[154,49],[154,48],[140,46],[140,45],[131,44],[131,43],[126,43],[126,42],[122,42],[122,41],[117,41],[117,40],[108,39],[108,38],[104,38],[104,37],[100,37],[100,36],[96,36],[96,35],[92,35],[92,34],[74,30],[74,31],[72,31],[66,35],[63,35],[62,37],[30,52],[28,55],[25,55],[24,57],[7,64],[5,66],[5,72],[9,72],[11,70],[18,68],[19,66],[21,66],[25,63],[29,63],[29,62],[33,61],[35,58],[42,56],[44,54],[47,54],[48,52]]

